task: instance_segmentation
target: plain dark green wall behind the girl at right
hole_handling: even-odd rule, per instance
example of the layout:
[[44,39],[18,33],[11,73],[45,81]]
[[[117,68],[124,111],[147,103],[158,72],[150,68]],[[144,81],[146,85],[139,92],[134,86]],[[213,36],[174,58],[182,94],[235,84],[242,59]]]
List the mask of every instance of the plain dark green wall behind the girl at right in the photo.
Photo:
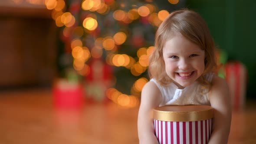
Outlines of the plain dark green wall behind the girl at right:
[[248,69],[247,99],[256,98],[256,0],[187,0],[206,20],[213,39]]

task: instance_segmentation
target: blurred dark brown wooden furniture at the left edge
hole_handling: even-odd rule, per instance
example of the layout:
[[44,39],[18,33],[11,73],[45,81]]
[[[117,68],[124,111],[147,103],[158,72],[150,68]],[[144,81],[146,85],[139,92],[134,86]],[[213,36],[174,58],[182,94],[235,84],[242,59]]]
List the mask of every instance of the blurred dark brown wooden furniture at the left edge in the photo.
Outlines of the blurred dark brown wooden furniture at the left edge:
[[56,41],[50,10],[0,5],[0,89],[52,83]]

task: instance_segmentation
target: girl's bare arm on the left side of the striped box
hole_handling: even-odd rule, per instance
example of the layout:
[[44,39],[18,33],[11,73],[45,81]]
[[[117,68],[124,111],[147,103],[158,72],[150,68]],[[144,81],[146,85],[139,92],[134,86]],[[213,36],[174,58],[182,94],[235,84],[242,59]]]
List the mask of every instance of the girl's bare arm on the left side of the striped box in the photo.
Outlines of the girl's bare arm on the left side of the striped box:
[[152,110],[159,106],[161,92],[154,82],[144,85],[141,92],[141,105],[138,113],[138,137],[140,144],[158,144],[154,135]]

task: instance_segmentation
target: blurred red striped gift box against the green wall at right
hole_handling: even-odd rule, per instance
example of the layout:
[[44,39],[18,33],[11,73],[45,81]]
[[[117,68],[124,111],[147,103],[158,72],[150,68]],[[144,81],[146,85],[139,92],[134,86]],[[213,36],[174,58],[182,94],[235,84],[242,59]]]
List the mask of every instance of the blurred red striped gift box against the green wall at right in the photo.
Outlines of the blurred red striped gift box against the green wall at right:
[[226,63],[225,72],[233,110],[241,110],[245,106],[247,69],[241,62],[234,61]]

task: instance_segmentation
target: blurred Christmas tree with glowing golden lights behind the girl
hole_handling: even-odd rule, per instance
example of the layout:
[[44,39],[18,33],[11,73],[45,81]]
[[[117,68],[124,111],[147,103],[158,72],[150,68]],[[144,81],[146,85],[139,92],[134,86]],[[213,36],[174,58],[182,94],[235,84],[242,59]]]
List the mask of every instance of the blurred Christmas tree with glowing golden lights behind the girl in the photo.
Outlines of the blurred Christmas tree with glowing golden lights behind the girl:
[[[168,11],[184,6],[168,1]],[[102,100],[106,94],[120,105],[136,105],[148,82],[154,34],[169,12],[153,0],[48,0],[50,6],[62,28],[60,69],[75,69],[87,96]]]

